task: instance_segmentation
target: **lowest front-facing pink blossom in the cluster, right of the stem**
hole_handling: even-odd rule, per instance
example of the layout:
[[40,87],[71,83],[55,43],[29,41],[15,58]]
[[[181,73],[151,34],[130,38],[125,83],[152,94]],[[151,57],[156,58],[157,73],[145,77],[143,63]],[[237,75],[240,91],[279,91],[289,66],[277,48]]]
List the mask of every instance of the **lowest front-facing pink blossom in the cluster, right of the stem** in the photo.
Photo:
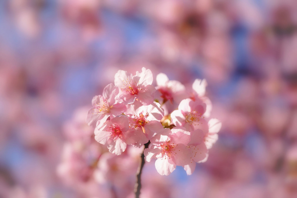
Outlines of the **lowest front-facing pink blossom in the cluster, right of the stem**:
[[159,140],[152,141],[150,148],[144,150],[146,161],[157,158],[155,167],[160,175],[169,175],[176,166],[190,163],[192,153],[186,146],[190,141],[190,133],[184,127],[163,129]]

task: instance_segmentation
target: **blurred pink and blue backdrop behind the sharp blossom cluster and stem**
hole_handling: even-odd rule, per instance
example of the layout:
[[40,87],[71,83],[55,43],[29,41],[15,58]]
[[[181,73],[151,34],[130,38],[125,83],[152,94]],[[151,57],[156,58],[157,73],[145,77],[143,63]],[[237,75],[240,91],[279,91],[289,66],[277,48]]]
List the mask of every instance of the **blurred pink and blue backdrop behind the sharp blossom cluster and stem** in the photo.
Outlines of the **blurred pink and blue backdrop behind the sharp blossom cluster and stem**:
[[222,129],[190,176],[146,163],[142,197],[297,197],[295,0],[1,0],[0,197],[133,197],[141,151],[113,158],[85,117],[143,66],[205,78]]

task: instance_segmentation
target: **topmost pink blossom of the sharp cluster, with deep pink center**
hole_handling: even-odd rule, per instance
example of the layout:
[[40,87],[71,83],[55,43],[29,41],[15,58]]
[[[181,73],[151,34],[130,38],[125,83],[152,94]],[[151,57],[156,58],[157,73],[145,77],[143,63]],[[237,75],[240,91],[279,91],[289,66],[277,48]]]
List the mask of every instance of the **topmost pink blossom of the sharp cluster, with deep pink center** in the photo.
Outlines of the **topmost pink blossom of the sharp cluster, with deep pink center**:
[[143,105],[154,102],[153,74],[151,70],[142,68],[142,72],[132,75],[127,71],[119,70],[115,75],[114,84],[119,87],[119,98],[127,104],[138,100]]

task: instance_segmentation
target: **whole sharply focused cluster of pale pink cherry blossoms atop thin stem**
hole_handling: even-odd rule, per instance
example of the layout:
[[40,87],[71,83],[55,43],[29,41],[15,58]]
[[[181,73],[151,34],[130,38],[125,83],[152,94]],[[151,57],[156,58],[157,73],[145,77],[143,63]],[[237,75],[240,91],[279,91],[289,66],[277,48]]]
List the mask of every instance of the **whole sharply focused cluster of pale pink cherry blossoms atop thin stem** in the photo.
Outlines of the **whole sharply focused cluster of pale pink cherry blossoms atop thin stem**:
[[206,80],[196,79],[191,88],[160,73],[153,86],[151,70],[135,75],[119,70],[114,84],[94,96],[86,121],[95,126],[95,140],[120,155],[127,145],[141,147],[146,161],[155,161],[159,174],[169,175],[183,166],[188,175],[196,163],[208,158],[217,141],[221,122],[210,117],[211,102]]

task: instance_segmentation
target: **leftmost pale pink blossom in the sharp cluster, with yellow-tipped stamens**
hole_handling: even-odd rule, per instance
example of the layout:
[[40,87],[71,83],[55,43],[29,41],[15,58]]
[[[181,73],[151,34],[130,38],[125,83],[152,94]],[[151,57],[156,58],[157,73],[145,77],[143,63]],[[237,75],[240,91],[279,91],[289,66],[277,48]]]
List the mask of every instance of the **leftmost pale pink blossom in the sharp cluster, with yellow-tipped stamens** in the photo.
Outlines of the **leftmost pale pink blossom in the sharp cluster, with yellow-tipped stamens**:
[[119,89],[110,83],[103,89],[102,96],[94,96],[93,107],[89,110],[86,118],[87,123],[93,125],[97,121],[106,121],[109,116],[113,118],[124,113],[126,106],[119,103],[118,94]]

